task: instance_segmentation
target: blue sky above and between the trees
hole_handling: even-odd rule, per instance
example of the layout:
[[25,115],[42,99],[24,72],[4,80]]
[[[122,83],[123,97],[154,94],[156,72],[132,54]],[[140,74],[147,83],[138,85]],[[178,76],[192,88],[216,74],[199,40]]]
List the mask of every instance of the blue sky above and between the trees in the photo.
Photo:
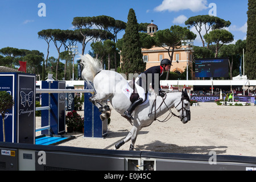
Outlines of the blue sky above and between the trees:
[[[42,4],[43,3],[43,4]],[[185,20],[196,15],[216,15],[229,20],[226,28],[234,35],[235,43],[246,39],[247,0],[0,0],[0,49],[15,47],[38,50],[47,55],[47,43],[38,38],[38,32],[44,29],[73,30],[72,21],[76,16],[112,16],[127,22],[132,8],[138,23],[151,23],[158,30],[173,25],[185,27]],[[43,5],[43,6],[42,6]],[[197,34],[195,28],[191,28]],[[125,31],[118,34],[121,39]],[[197,36],[195,46],[202,46]],[[78,43],[79,52],[81,44]],[[90,50],[87,44],[85,53]],[[61,51],[64,51],[62,47]],[[49,56],[57,57],[57,50],[51,42]]]

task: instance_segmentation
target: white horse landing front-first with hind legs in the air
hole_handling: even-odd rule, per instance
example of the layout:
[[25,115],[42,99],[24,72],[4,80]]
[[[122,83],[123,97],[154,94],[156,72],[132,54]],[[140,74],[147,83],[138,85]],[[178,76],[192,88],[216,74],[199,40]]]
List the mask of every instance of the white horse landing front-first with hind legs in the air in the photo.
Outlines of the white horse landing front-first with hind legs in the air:
[[[92,86],[93,82],[96,94],[90,97],[89,100],[100,109],[101,119],[110,117],[110,108],[106,105],[106,100],[109,100],[113,108],[125,117],[123,113],[131,105],[130,98],[122,92],[123,85],[128,84],[127,80],[117,72],[103,70],[100,61],[93,59],[90,55],[81,56],[81,64],[84,65],[82,78],[89,87]],[[155,94],[153,96],[155,96],[155,99],[150,99],[147,104],[139,105],[134,110],[133,127],[124,140],[115,144],[115,149],[131,139],[130,150],[133,150],[139,131],[143,127],[150,126],[156,118],[167,111],[179,117],[183,123],[190,121],[190,104],[187,90],[167,92],[164,98]],[[177,109],[180,116],[171,111],[173,107]]]

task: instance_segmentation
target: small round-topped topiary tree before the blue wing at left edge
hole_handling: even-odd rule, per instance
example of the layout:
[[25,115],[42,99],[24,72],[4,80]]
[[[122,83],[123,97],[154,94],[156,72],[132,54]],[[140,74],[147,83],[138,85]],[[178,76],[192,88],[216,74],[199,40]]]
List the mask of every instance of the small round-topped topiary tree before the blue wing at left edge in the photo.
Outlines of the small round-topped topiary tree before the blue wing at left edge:
[[6,91],[0,91],[0,113],[3,121],[3,142],[5,142],[5,113],[14,105],[13,97]]

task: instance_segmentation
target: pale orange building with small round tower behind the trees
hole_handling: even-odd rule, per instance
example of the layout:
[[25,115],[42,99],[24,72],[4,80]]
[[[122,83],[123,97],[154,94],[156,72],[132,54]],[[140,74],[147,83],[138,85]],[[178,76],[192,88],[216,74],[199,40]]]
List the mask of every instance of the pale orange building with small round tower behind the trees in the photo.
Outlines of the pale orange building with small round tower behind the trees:
[[[147,26],[147,34],[154,36],[154,33],[158,31],[158,26],[151,23]],[[191,43],[193,40],[184,40],[183,46],[174,49],[174,56],[172,59],[172,66],[170,71],[181,74],[185,71],[185,68],[191,69],[192,78],[193,76],[193,67],[192,67],[192,46]],[[190,42],[190,43],[189,43]],[[170,49],[171,51],[171,49]],[[170,59],[168,55],[168,47],[152,47],[150,49],[142,48],[143,61],[146,62],[146,69],[160,65],[162,59]],[[171,52],[170,52],[171,55]],[[122,57],[121,57],[122,59]]]

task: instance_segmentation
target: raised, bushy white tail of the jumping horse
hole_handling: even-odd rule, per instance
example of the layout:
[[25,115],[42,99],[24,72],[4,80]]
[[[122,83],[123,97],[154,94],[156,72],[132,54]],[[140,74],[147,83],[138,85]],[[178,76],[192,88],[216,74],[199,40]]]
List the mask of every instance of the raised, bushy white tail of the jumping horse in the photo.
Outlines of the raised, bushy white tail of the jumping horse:
[[102,64],[99,60],[94,59],[89,54],[81,55],[81,65],[84,67],[82,70],[82,78],[87,83],[87,86],[92,88],[92,82],[98,72],[102,70]]

